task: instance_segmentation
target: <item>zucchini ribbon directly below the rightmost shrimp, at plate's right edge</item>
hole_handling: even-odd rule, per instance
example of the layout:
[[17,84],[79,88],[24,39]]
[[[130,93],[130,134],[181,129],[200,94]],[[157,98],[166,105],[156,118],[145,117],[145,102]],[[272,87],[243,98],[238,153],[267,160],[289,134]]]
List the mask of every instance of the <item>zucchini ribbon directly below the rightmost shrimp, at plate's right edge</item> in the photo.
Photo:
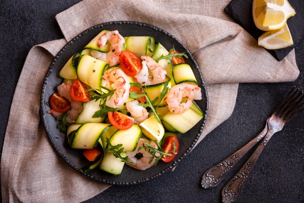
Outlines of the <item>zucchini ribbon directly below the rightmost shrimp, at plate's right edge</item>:
[[189,108],[181,114],[173,114],[169,112],[161,119],[162,121],[165,121],[166,124],[169,124],[169,126],[172,126],[178,132],[186,133],[188,130],[194,127],[202,118],[202,115],[197,113],[192,108]]

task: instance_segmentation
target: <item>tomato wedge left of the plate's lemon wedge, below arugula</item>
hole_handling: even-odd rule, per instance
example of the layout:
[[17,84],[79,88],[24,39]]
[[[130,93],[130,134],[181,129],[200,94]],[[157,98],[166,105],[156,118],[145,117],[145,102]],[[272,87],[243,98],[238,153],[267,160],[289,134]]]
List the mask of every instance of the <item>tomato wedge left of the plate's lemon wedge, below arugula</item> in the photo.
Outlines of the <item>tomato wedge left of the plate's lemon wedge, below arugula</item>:
[[127,130],[132,127],[134,124],[134,119],[120,113],[118,111],[108,112],[108,118],[110,123],[120,129],[120,130]]

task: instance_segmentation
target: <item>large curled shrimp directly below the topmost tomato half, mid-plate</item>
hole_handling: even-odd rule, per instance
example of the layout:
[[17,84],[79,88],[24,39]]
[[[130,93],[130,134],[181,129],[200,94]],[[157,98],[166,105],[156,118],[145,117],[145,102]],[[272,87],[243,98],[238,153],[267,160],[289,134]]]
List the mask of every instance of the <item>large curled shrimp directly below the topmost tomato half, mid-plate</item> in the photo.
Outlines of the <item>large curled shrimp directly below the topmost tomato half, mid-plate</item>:
[[129,98],[129,79],[119,68],[106,70],[103,73],[101,85],[116,89],[114,94],[109,97],[105,103],[109,107],[120,107]]

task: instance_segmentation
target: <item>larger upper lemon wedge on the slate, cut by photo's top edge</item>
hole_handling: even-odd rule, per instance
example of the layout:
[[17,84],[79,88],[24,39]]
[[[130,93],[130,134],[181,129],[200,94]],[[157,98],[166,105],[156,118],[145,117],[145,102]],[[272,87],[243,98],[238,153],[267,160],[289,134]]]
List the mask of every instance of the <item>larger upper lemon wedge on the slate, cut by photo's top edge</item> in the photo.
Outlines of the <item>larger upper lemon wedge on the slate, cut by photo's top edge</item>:
[[253,21],[260,30],[278,30],[295,14],[287,0],[253,0]]

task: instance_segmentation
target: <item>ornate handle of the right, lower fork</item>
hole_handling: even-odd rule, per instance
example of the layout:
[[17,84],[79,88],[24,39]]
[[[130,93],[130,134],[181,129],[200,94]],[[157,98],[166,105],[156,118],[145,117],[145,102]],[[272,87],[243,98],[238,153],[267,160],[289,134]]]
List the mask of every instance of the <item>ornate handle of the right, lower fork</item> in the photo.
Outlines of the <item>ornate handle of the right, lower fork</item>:
[[253,152],[252,156],[248,159],[248,161],[244,164],[244,166],[236,173],[236,175],[228,182],[228,184],[224,186],[221,192],[223,203],[231,203],[237,200],[245,184],[246,178],[248,177],[251,169],[253,168],[253,165],[255,164],[256,160],[260,156],[261,152],[264,150],[266,144],[268,143],[268,141],[270,140],[273,134],[274,131],[272,129],[269,129],[264,140],[256,148],[255,152]]

